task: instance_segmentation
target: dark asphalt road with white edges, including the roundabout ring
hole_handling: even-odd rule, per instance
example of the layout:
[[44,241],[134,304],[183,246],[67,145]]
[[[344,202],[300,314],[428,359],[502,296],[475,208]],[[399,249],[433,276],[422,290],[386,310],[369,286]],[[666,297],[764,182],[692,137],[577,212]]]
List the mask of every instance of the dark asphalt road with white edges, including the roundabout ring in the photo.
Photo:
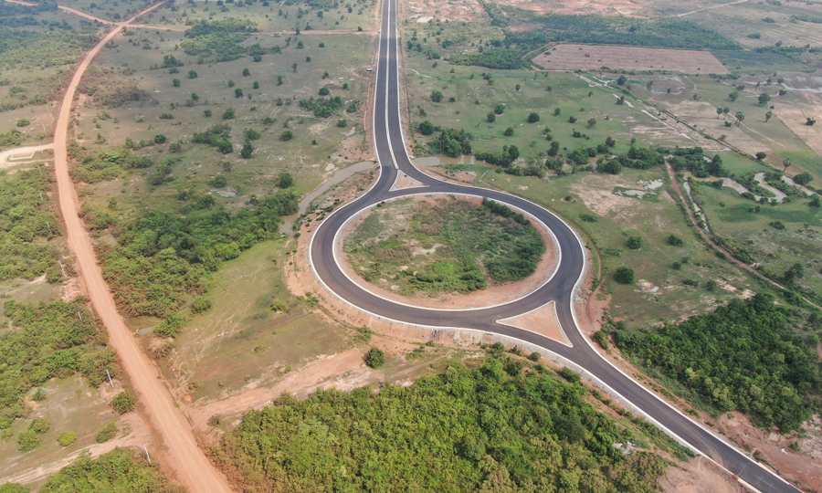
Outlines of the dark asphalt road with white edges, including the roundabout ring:
[[[539,205],[494,190],[448,184],[420,172],[406,152],[400,111],[396,0],[384,0],[380,28],[379,58],[374,94],[374,145],[380,175],[374,186],[359,199],[326,217],[311,238],[309,260],[315,275],[336,296],[374,316],[410,325],[442,329],[469,329],[499,334],[551,351],[583,369],[609,393],[631,404],[648,420],[669,435],[707,456],[740,478],[748,488],[761,493],[799,491],[720,435],[696,423],[655,393],[606,362],[585,338],[574,317],[574,293],[585,273],[585,247],[579,236],[562,219]],[[392,191],[399,172],[426,187]],[[407,306],[379,298],[343,274],[334,257],[335,239],[342,226],[364,208],[410,194],[470,194],[511,205],[543,222],[553,231],[561,259],[553,278],[530,295],[509,303],[483,309],[443,310]],[[572,346],[566,346],[528,330],[501,325],[506,319],[556,302],[557,317]]]

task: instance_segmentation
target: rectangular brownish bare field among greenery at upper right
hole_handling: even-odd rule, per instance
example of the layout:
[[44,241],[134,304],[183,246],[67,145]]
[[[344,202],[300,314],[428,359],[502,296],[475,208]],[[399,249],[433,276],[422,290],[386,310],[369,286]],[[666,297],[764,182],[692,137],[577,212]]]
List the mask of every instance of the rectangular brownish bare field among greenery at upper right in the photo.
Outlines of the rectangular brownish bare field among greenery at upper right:
[[[550,53],[550,55],[548,54]],[[647,47],[557,45],[533,59],[549,70],[669,70],[685,74],[730,74],[710,51]]]

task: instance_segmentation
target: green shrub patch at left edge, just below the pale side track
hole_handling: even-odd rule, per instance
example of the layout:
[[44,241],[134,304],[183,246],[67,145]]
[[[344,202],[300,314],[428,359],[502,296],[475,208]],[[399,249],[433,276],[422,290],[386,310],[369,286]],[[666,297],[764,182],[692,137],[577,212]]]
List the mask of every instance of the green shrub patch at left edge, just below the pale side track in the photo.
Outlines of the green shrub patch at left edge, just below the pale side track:
[[47,243],[60,234],[48,199],[52,181],[36,169],[0,175],[0,280],[61,279],[58,247]]

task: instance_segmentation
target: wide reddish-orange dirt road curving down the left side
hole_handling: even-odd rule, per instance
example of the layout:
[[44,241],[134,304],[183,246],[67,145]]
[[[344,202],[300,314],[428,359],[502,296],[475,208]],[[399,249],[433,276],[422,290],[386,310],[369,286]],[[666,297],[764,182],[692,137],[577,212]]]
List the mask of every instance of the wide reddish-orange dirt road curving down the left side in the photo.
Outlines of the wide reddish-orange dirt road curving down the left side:
[[[158,5],[149,7],[138,16]],[[68,247],[77,257],[79,273],[91,303],[109,331],[109,343],[117,351],[123,370],[129,375],[134,389],[139,394],[149,422],[163,437],[165,456],[169,457],[170,462],[167,466],[174,469],[176,478],[191,493],[225,493],[231,491],[226,478],[197,446],[192,426],[182,411],[174,405],[174,400],[163,386],[157,368],[140,349],[120,313],[117,312],[114,297],[111,296],[109,286],[103,280],[100,266],[97,264],[90,237],[80,222],[77,193],[68,177],[68,121],[75,91],[86,68],[89,68],[91,59],[129,22],[131,19],[116,24],[111,32],[91,49],[74,73],[63,98],[54,135],[54,163],[60,211],[66,221]]]

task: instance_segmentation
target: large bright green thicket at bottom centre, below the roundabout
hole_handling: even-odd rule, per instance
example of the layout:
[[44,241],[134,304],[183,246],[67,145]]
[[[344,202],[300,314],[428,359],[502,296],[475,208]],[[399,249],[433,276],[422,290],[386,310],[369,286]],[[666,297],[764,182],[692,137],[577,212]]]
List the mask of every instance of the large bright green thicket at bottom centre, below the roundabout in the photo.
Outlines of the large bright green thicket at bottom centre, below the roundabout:
[[[492,357],[409,387],[289,395],[216,447],[245,491],[655,491],[659,456],[542,366]],[[573,372],[571,372],[573,374]]]

